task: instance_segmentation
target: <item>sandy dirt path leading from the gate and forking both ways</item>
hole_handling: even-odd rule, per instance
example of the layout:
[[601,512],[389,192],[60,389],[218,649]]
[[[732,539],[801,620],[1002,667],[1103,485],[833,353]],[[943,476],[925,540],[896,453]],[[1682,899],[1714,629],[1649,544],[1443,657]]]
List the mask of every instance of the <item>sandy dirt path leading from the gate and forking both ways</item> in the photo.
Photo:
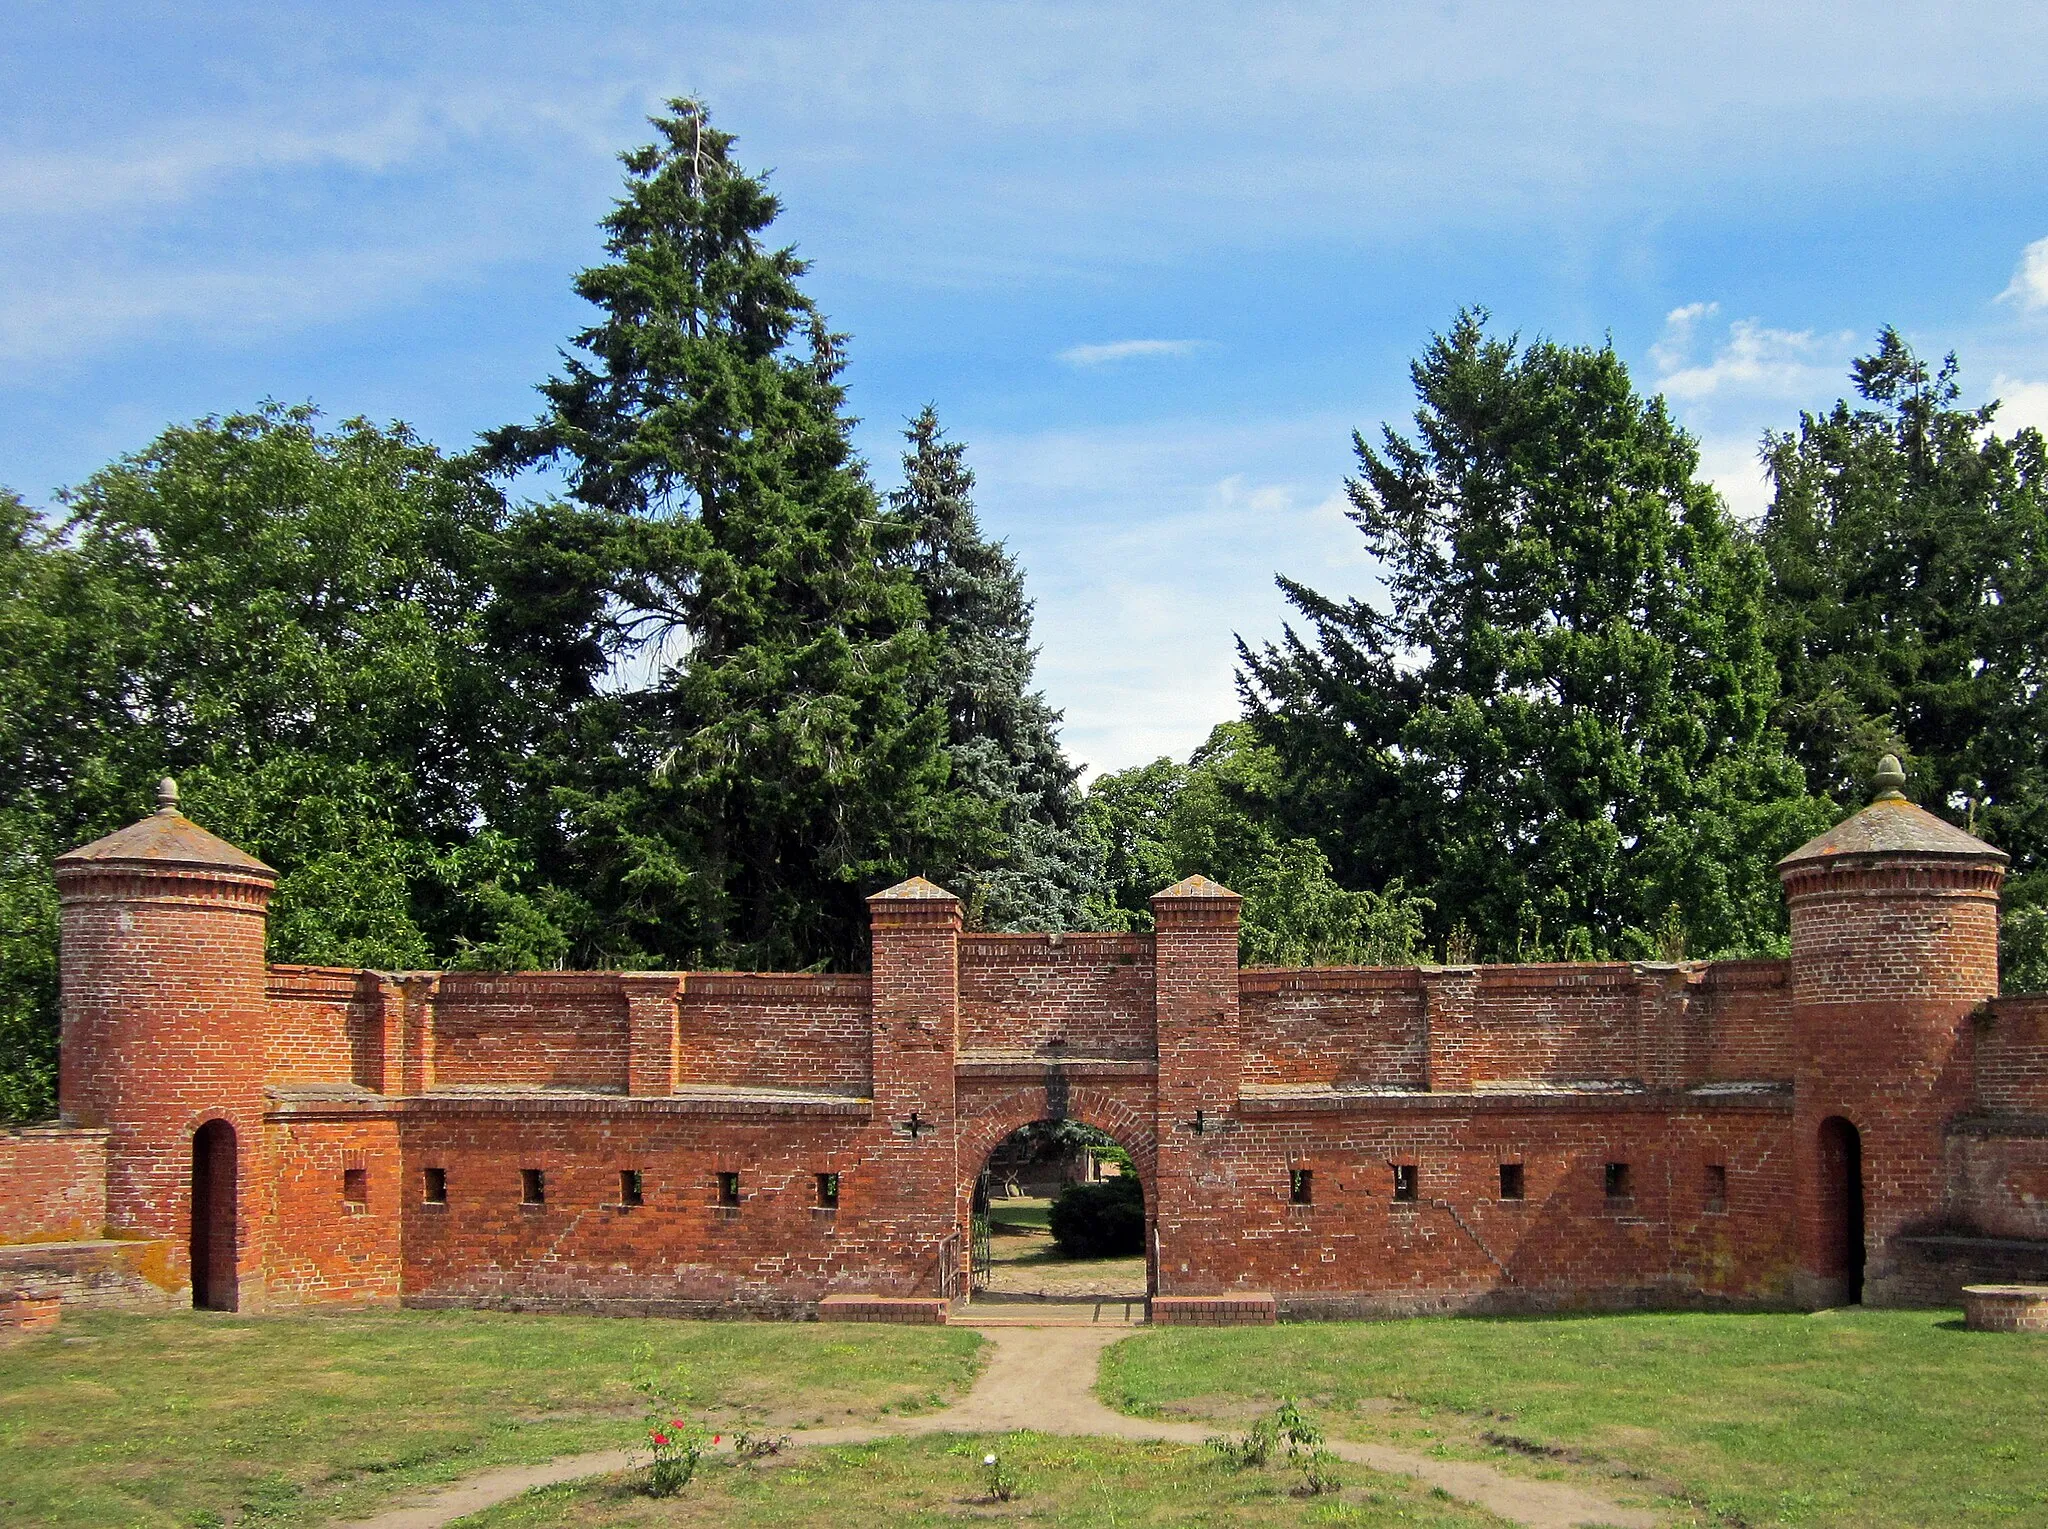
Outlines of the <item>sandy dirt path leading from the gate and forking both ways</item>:
[[[1096,1371],[1102,1351],[1128,1339],[1128,1326],[989,1326],[983,1328],[993,1353],[981,1380],[944,1412],[901,1418],[895,1427],[803,1429],[797,1445],[870,1443],[922,1433],[1085,1433],[1110,1439],[1165,1439],[1202,1443],[1217,1433],[1200,1423],[1165,1423],[1112,1412],[1096,1400]],[[1642,1509],[1626,1509],[1567,1482],[1538,1482],[1507,1476],[1493,1466],[1464,1459],[1434,1459],[1389,1445],[1331,1439],[1329,1449],[1358,1466],[1413,1476],[1423,1486],[1442,1486],[1454,1498],[1473,1502],[1530,1529],[1659,1529],[1663,1519]],[[360,1521],[360,1529],[440,1529],[467,1513],[481,1513],[535,1486],[573,1482],[625,1470],[625,1451],[565,1455],[545,1466],[504,1466],[438,1488],[412,1506],[389,1509]]]

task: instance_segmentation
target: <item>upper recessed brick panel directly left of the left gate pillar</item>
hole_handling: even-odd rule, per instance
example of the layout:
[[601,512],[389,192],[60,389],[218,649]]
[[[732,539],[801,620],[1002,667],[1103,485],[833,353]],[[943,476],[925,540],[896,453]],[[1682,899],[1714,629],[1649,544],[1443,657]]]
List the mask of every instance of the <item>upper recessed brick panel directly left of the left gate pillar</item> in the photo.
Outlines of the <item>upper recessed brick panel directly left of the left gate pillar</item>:
[[868,980],[692,972],[676,1071],[684,1083],[866,1093]]

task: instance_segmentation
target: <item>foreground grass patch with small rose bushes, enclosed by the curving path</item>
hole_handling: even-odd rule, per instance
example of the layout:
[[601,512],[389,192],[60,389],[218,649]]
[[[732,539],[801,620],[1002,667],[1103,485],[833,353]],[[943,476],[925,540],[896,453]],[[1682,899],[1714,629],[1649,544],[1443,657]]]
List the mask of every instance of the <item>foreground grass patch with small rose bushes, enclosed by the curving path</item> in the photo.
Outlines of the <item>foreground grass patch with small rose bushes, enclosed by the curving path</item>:
[[[987,1496],[981,1457],[999,1449],[1022,1490]],[[1278,1466],[1229,1470],[1186,1445],[1053,1439],[891,1439],[739,1466],[707,1461],[680,1496],[653,1500],[637,1480],[545,1488],[463,1519],[463,1529],[541,1525],[956,1525],[1044,1523],[1061,1529],[1126,1525],[1409,1525],[1499,1529],[1505,1521],[1343,1466],[1333,1496],[1300,1498],[1300,1478]]]

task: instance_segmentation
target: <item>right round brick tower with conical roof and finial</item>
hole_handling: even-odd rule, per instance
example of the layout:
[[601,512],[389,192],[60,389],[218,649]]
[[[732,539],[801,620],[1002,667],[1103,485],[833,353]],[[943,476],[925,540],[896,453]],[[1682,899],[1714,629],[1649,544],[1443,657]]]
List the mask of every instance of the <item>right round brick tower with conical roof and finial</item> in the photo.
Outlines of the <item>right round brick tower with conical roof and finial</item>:
[[1925,1298],[1894,1238],[1944,1218],[1970,1015],[1999,991],[2007,856],[1905,798],[1884,755],[1855,817],[1778,862],[1792,919],[1800,1298]]

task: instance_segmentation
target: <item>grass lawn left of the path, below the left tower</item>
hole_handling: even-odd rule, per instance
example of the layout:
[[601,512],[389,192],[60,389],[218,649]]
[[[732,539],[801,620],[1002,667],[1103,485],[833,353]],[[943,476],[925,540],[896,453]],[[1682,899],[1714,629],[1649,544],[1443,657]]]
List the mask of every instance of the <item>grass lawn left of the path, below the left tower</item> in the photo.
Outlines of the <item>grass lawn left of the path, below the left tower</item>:
[[930,1410],[965,1330],[494,1312],[66,1314],[0,1343],[0,1523],[346,1519],[422,1482],[639,1439],[633,1380],[713,1425]]

